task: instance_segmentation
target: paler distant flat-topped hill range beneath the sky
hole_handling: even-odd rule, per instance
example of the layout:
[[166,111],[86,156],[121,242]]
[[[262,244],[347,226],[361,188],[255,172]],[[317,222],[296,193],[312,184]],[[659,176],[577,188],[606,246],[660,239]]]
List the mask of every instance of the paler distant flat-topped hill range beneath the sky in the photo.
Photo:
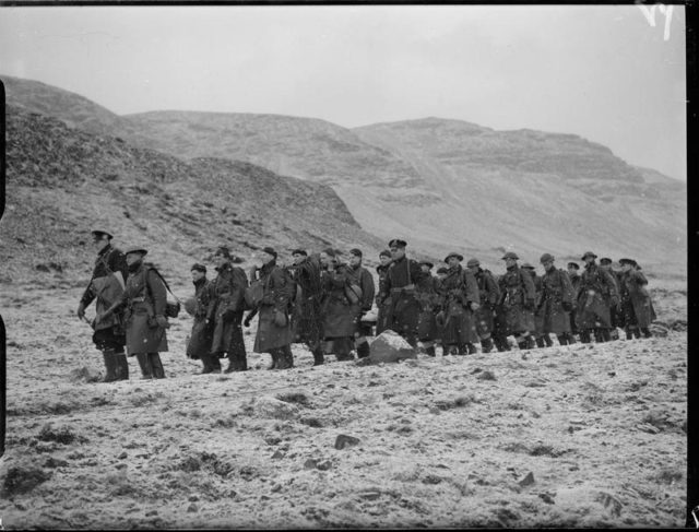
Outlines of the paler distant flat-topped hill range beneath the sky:
[[[23,92],[24,84],[31,90]],[[593,249],[686,272],[684,184],[631,166],[577,135],[496,131],[440,118],[353,130],[318,119],[251,114],[156,111],[115,118],[100,111],[90,119],[94,104],[85,98],[72,95],[71,105],[51,108],[50,97],[33,96],[44,94],[33,84],[15,80],[10,102],[19,98],[27,109],[87,131],[106,128],[191,164],[201,157],[217,164],[245,161],[330,185],[367,233],[383,243],[403,236],[413,252],[435,259],[455,249],[501,269],[505,249],[533,262],[544,251],[568,260]]]

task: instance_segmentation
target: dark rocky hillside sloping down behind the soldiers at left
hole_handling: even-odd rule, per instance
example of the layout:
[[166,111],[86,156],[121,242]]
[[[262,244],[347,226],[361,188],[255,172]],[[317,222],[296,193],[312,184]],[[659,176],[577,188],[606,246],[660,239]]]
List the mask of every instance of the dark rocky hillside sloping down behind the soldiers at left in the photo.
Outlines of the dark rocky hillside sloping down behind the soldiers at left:
[[8,206],[0,223],[3,282],[37,275],[84,282],[104,224],[118,245],[149,247],[164,272],[186,282],[193,261],[228,245],[249,262],[264,246],[284,259],[303,246],[378,252],[329,187],[249,163],[181,161],[118,138],[7,106]]

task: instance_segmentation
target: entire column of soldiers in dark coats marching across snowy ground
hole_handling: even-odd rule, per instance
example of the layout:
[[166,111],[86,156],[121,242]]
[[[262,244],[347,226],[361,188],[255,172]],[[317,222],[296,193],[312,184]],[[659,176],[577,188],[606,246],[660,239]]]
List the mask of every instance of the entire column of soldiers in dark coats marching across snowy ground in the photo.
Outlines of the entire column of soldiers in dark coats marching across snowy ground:
[[[168,348],[168,315],[174,316],[168,311],[169,287],[153,264],[144,262],[145,248],[121,252],[108,230],[94,229],[92,235],[97,259],[78,316],[85,319],[85,308],[96,299],[91,324],[107,369],[104,380],[129,378],[125,351],[137,357],[143,378],[164,378],[159,353]],[[475,353],[476,344],[483,353],[505,352],[511,348],[511,336],[520,350],[529,350],[553,345],[552,333],[560,345],[574,343],[576,335],[583,343],[616,340],[617,327],[627,339],[651,335],[655,314],[648,281],[632,259],[620,259],[620,271],[614,271],[612,260],[603,258],[597,264],[588,251],[579,274],[578,263],[568,263],[567,271],[557,269],[555,258],[544,253],[540,276],[534,267],[519,265],[519,257],[507,252],[506,271],[496,276],[477,259],[463,268],[463,256],[451,252],[443,260],[447,267],[434,275],[434,264],[408,259],[406,246],[393,239],[379,255],[378,291],[360,249],[352,249],[347,262],[332,248],[310,256],[295,249],[293,263],[282,265],[277,252],[265,247],[262,265],[246,273],[228,248],[220,247],[213,256],[213,280],[205,265],[191,267],[194,295],[185,309],[193,326],[187,356],[202,362],[202,374],[222,373],[225,357],[225,373],[248,369],[242,328],[250,327],[254,316],[253,351],[271,355],[269,369],[294,366],[293,343],[308,347],[315,366],[328,354],[339,360],[353,359],[354,352],[367,357],[367,336],[387,330],[429,356],[436,355],[437,345],[443,355]]]

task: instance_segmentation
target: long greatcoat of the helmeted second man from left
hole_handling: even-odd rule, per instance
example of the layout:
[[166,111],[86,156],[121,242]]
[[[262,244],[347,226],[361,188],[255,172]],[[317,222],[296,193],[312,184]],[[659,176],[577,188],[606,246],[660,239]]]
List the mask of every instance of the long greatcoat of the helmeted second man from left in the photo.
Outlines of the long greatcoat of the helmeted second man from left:
[[121,295],[121,304],[126,305],[127,353],[133,356],[167,351],[166,329],[155,321],[156,316],[165,316],[165,284],[150,263],[138,262],[131,268]]

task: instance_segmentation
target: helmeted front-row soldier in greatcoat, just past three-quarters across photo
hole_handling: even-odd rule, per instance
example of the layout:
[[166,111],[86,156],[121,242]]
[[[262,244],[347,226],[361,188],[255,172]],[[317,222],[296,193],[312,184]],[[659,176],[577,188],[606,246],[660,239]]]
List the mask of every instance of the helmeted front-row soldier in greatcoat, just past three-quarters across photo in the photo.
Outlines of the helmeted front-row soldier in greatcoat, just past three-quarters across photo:
[[548,336],[552,332],[558,336],[560,345],[576,343],[570,333],[570,315],[574,291],[568,273],[557,270],[550,253],[542,255],[540,261],[546,273],[542,277],[542,298],[540,312],[543,316],[543,331]]

